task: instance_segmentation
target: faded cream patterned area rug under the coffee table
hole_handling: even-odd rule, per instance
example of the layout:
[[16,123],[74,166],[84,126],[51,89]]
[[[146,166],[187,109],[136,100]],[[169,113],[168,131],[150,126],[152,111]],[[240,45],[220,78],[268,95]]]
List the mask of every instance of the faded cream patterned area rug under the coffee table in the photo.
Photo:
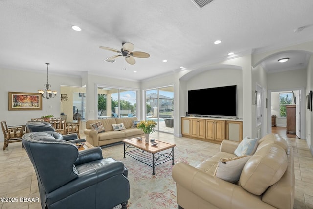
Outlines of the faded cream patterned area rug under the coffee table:
[[[181,139],[181,138],[180,138]],[[186,143],[185,140],[191,140]],[[181,142],[181,143],[180,143]],[[181,139],[174,148],[174,163],[182,161],[193,166],[209,158],[208,149],[218,152],[219,145],[193,139]],[[141,163],[130,156],[124,157],[123,144],[103,148],[104,157],[112,157],[120,160],[128,169],[130,182],[130,199],[128,209],[177,209],[176,184],[172,178],[172,161],[167,161],[155,167],[155,175],[152,175],[152,167]],[[209,149],[210,150],[210,149]],[[114,209],[120,208],[119,206]]]

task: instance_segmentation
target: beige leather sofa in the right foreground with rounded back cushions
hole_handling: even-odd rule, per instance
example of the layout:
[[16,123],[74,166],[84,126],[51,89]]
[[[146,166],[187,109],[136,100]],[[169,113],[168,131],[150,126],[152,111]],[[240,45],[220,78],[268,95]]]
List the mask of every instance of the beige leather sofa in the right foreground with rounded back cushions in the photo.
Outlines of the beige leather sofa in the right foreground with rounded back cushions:
[[172,176],[177,202],[184,209],[292,209],[294,164],[292,147],[277,134],[258,141],[236,184],[214,177],[222,158],[235,157],[238,142],[224,140],[220,152],[193,167],[178,162]]

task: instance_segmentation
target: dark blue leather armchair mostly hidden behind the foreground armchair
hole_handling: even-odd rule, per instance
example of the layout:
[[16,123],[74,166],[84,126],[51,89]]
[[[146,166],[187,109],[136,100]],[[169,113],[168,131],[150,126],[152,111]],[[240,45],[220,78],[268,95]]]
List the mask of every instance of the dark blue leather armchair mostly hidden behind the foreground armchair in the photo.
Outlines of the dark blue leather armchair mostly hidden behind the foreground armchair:
[[[28,132],[40,132],[40,131],[54,132],[55,131],[54,128],[51,126],[51,124],[48,122],[28,122],[26,123],[26,130]],[[86,141],[86,139],[78,139],[77,134],[65,134],[65,135],[55,134],[54,137],[56,139],[62,139],[71,143],[79,143],[79,142]]]

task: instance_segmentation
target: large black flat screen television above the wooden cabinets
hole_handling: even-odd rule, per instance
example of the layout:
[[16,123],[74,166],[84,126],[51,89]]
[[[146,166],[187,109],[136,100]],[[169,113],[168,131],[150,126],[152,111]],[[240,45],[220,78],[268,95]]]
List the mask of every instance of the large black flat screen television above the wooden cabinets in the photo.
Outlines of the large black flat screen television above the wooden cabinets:
[[196,116],[237,117],[237,85],[189,90],[187,112]]

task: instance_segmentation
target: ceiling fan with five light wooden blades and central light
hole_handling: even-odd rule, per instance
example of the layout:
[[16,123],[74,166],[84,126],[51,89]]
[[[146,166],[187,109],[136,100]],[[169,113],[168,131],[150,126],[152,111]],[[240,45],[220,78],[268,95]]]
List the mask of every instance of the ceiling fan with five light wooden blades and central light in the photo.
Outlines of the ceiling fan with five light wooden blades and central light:
[[125,57],[126,62],[128,62],[131,65],[134,65],[136,63],[134,57],[138,57],[138,58],[148,58],[148,57],[150,57],[150,54],[148,54],[146,52],[133,51],[134,47],[135,47],[134,44],[132,44],[130,42],[122,43],[121,50],[116,50],[114,48],[109,48],[109,47],[105,47],[105,46],[99,46],[99,48],[119,53],[118,55],[114,55],[112,57],[107,58],[106,61],[112,61],[112,60],[115,60],[118,57],[123,56],[123,57]]

